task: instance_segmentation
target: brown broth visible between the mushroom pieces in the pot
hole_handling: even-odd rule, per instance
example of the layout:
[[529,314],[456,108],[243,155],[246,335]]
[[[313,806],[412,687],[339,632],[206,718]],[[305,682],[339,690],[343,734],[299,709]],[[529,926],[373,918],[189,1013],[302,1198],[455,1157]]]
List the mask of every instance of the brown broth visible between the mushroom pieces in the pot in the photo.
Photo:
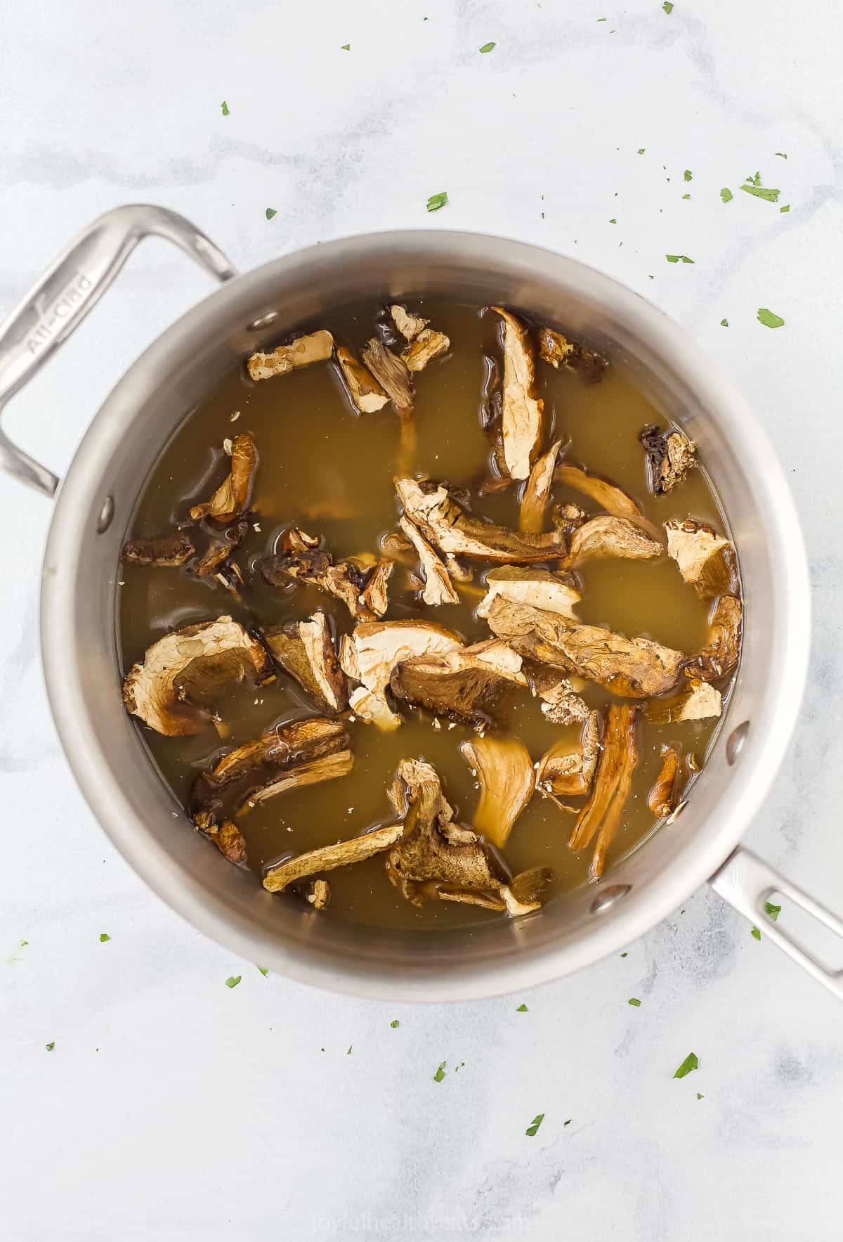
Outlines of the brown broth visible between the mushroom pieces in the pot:
[[[413,302],[413,308],[421,306]],[[432,298],[423,301],[423,312],[435,328],[449,335],[452,353],[416,375],[418,443],[412,469],[472,488],[474,513],[516,527],[515,488],[480,497],[476,493],[489,457],[489,442],[480,425],[483,353],[494,348],[490,320],[497,317],[480,318],[473,308]],[[313,327],[329,328],[338,340],[359,349],[372,334],[374,314],[370,304],[345,308],[323,317]],[[536,378],[539,395],[552,417],[548,436],[552,430],[555,436],[570,440],[569,461],[581,462],[624,487],[654,523],[694,517],[723,529],[724,518],[704,468],[693,471],[667,497],[649,494],[638,432],[646,422],[663,422],[663,419],[627,375],[610,366],[601,383],[586,385],[579,375],[556,371],[539,361]],[[232,422],[236,411],[240,416]],[[206,499],[227,473],[222,440],[246,430],[253,432],[259,452],[252,507],[252,522],[259,529],[250,529],[236,556],[252,582],[243,604],[214,580],[191,578],[185,570],[124,565],[118,609],[124,672],[142,661],[147,647],[169,630],[225,614],[248,625],[279,625],[320,607],[334,619],[338,633],[353,628],[348,611],[315,589],[299,586],[289,594],[279,592],[267,586],[259,574],[248,573],[259,556],[274,550],[278,533],[291,524],[320,534],[338,558],[376,551],[380,537],[396,529],[399,510],[392,474],[399,419],[391,405],[377,414],[354,414],[333,363],[258,384],[247,378],[245,369],[227,375],[185,417],[161,452],[128,535],[151,537],[184,523],[189,505]],[[588,513],[597,512],[585,497],[557,486],[554,501],[566,499],[576,501]],[[579,611],[584,621],[628,635],[643,633],[684,651],[694,651],[705,642],[709,607],[667,556],[656,561],[596,560],[584,565],[580,576],[584,599]],[[477,596],[466,594],[463,599],[458,606],[436,610],[418,605],[407,585],[405,568],[397,565],[390,582],[387,616],[425,615],[457,630],[467,641],[488,637],[485,622],[473,616]],[[587,687],[585,697],[593,705],[612,699],[593,686]],[[225,744],[214,729],[190,738],[164,738],[140,725],[163,779],[183,805],[197,771],[215,756],[258,737],[278,720],[318,714],[283,674],[257,689],[232,688],[217,707],[228,730]],[[538,702],[526,693],[510,704],[507,724],[526,744],[534,760],[565,732],[574,738],[579,729],[562,730],[549,723]],[[660,745],[668,741],[684,751],[693,750],[701,765],[716,725],[713,720],[664,727],[641,723],[641,760],[621,827],[608,851],[610,868],[656,828],[647,809],[647,792],[659,769]],[[354,836],[365,826],[387,818],[386,789],[399,761],[408,756],[423,755],[433,764],[457,817],[471,823],[478,795],[458,749],[472,735],[469,728],[448,727],[447,722],[436,728],[430,713],[411,710],[394,733],[363,722],[351,724],[350,732],[355,755],[350,775],[279,795],[241,818],[250,866],[256,874],[278,856]],[[581,853],[569,850],[572,825],[572,815],[549,799],[534,796],[507,843],[505,857],[513,872],[549,866],[555,874],[555,897],[586,883],[591,850]],[[228,866],[222,857],[220,866]],[[350,922],[426,928],[500,917],[444,902],[411,905],[390,884],[381,856],[334,871],[329,882],[328,915]]]

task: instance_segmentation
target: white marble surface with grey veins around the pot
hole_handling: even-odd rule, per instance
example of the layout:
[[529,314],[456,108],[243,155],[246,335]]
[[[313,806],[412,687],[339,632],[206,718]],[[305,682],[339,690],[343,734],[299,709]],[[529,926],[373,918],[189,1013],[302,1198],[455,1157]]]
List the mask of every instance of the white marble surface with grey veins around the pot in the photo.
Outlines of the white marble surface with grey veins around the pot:
[[[816,609],[795,741],[749,841],[843,908],[839,5],[30,0],[2,27],[0,308],[89,219],[148,200],[242,268],[389,226],[541,242],[720,359],[787,466]],[[756,169],[788,214],[739,193]],[[451,201],[428,216],[438,190]],[[148,243],[6,428],[61,471],[206,291]],[[785,327],[761,327],[761,306]],[[166,909],[53,733],[36,650],[48,505],[5,478],[0,501],[4,1240],[839,1237],[843,1010],[708,892],[624,959],[447,1009],[264,979]],[[673,1081],[692,1048],[699,1071]]]

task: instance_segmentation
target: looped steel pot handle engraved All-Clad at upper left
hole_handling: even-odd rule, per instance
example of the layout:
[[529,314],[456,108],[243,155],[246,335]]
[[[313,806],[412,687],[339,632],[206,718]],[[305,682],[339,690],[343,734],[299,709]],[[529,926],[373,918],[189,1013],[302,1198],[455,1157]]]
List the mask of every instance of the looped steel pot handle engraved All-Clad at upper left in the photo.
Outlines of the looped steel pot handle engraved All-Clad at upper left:
[[[99,301],[144,237],[166,237],[211,276],[236,276],[221,250],[184,216],[149,204],[107,211],[47,268],[0,328],[0,414]],[[0,468],[52,497],[58,478],[0,430]]]

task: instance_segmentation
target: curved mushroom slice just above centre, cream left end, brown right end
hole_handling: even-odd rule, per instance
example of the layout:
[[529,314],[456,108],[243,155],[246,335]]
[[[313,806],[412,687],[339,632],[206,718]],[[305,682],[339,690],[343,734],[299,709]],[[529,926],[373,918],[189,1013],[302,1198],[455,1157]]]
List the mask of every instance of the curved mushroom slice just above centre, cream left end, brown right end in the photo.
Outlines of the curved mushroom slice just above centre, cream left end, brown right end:
[[469,517],[441,483],[403,476],[396,478],[395,489],[406,517],[442,553],[505,565],[549,560],[564,556],[567,550],[559,532],[519,534]]

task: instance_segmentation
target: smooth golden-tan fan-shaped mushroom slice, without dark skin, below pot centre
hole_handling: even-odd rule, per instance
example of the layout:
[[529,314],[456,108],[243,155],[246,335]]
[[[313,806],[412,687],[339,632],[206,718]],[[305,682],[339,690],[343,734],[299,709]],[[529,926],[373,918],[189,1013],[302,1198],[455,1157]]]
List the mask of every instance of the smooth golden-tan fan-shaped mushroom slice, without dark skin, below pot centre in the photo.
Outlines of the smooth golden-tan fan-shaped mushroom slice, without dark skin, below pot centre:
[[516,738],[489,737],[463,741],[459,753],[480,785],[472,823],[487,841],[503,850],[515,820],[533,797],[535,773],[530,751]]

